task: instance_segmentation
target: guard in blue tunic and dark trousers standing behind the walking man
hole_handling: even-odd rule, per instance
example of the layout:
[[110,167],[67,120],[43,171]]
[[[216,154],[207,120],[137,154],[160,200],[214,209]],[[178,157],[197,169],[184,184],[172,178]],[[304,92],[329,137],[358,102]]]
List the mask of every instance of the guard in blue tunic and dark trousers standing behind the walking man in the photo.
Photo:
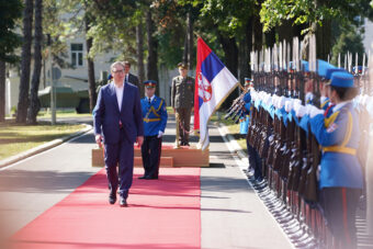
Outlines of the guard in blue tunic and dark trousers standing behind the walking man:
[[142,157],[145,172],[139,179],[151,180],[158,179],[162,135],[168,115],[165,100],[155,95],[157,81],[147,80],[144,86],[145,98],[142,99],[142,112],[145,137]]

